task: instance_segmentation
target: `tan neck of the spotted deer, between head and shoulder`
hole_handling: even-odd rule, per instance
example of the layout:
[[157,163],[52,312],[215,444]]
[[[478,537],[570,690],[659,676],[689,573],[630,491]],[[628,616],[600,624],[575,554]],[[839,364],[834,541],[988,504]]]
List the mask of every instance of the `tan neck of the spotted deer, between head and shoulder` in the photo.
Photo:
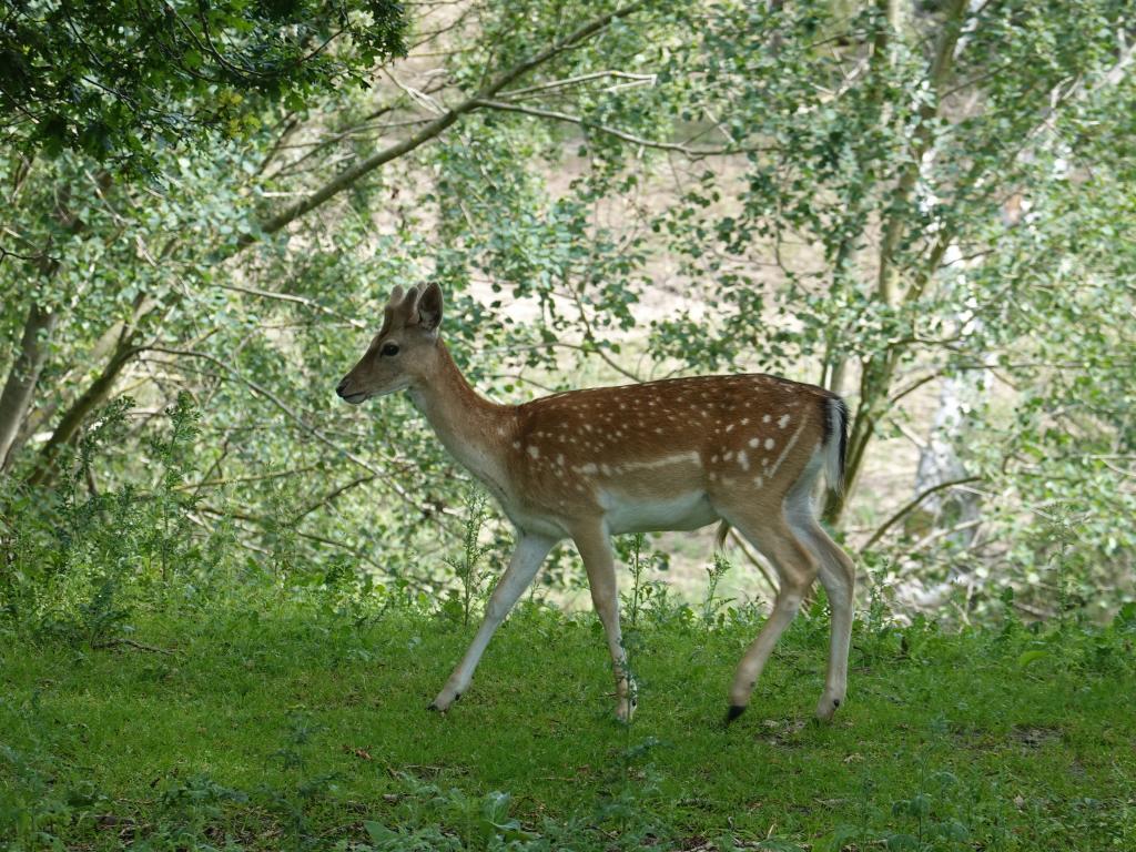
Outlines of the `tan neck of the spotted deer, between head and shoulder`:
[[512,407],[499,406],[475,391],[450,352],[437,344],[438,367],[428,384],[412,387],[418,407],[450,454],[491,491],[503,496],[504,448],[512,434]]

